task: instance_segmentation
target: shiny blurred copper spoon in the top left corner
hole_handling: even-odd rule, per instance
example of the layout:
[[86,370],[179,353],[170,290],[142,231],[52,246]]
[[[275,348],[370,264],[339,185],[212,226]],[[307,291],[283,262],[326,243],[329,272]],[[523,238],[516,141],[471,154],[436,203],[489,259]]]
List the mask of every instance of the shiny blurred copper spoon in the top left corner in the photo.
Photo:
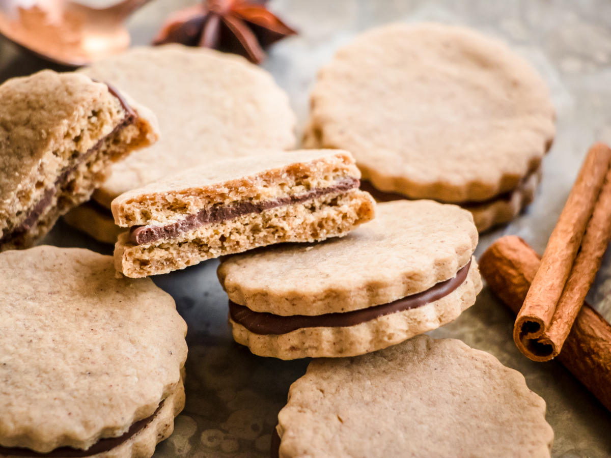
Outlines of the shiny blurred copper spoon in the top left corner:
[[125,20],[149,1],[97,9],[71,0],[0,0],[0,34],[42,59],[80,67],[125,51]]

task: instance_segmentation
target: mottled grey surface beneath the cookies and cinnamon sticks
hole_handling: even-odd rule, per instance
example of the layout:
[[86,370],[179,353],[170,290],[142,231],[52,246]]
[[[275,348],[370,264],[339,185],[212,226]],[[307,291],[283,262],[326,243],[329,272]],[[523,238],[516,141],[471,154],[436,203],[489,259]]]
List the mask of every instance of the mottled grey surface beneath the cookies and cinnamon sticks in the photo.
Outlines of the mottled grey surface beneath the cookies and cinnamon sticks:
[[[192,2],[148,4],[130,21],[134,44],[148,43],[167,13]],[[596,140],[611,144],[611,2],[607,0],[276,0],[270,8],[300,32],[274,46],[263,64],[290,94],[300,131],[316,70],[359,32],[390,21],[474,27],[505,40],[541,73],[558,118],[554,145],[543,162],[543,183],[524,215],[480,238],[476,255],[504,234],[517,234],[543,253],[588,147]],[[2,81],[43,65],[11,45],[0,46]],[[62,221],[45,242],[112,253],[112,247],[93,242]],[[216,279],[216,266],[216,260],[205,261],[152,277],[174,296],[189,324],[186,407],[172,437],[157,447],[159,458],[269,456],[277,412],[291,382],[305,373],[308,363],[256,357],[233,342],[227,296]],[[588,300],[611,320],[610,252]],[[523,356],[513,343],[513,321],[508,308],[484,288],[473,307],[429,334],[459,338],[524,374],[529,388],[547,403],[547,421],[555,432],[552,456],[611,457],[611,413],[560,363],[535,363]]]

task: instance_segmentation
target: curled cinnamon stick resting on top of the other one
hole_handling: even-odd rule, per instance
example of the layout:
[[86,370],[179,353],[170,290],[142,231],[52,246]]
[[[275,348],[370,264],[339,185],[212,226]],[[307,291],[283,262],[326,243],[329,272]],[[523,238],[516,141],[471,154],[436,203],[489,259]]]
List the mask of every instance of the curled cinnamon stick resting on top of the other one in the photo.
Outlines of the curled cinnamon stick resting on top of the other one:
[[532,360],[560,353],[600,267],[611,238],[610,165],[607,145],[590,148],[518,313],[513,338]]

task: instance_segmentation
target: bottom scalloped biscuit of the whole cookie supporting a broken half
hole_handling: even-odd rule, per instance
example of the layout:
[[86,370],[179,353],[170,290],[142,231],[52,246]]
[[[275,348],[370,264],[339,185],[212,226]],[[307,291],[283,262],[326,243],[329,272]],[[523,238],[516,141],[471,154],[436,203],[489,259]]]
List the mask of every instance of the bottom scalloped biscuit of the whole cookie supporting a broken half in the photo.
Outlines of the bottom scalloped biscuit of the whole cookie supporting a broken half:
[[261,335],[229,317],[233,338],[255,355],[296,358],[347,357],[396,345],[414,335],[437,329],[475,304],[481,277],[472,259],[464,282],[447,296],[421,307],[396,311],[360,324],[342,327],[304,327],[280,335]]

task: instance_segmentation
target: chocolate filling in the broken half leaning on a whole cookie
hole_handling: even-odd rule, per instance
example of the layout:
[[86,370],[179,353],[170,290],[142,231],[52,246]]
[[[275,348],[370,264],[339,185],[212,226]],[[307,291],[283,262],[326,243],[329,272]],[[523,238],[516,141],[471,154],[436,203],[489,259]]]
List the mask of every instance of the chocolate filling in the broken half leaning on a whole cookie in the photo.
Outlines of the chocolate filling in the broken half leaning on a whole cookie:
[[333,186],[312,189],[312,191],[300,195],[291,195],[290,197],[281,197],[257,203],[236,202],[232,205],[216,204],[211,208],[200,210],[196,214],[188,215],[185,219],[166,226],[133,226],[130,229],[130,241],[134,245],[144,245],[159,239],[174,239],[180,236],[180,234],[192,231],[205,224],[219,223],[235,219],[238,216],[262,213],[271,208],[303,203],[334,192],[346,192],[359,187],[359,184],[360,180],[358,178],[348,176],[337,181]]

